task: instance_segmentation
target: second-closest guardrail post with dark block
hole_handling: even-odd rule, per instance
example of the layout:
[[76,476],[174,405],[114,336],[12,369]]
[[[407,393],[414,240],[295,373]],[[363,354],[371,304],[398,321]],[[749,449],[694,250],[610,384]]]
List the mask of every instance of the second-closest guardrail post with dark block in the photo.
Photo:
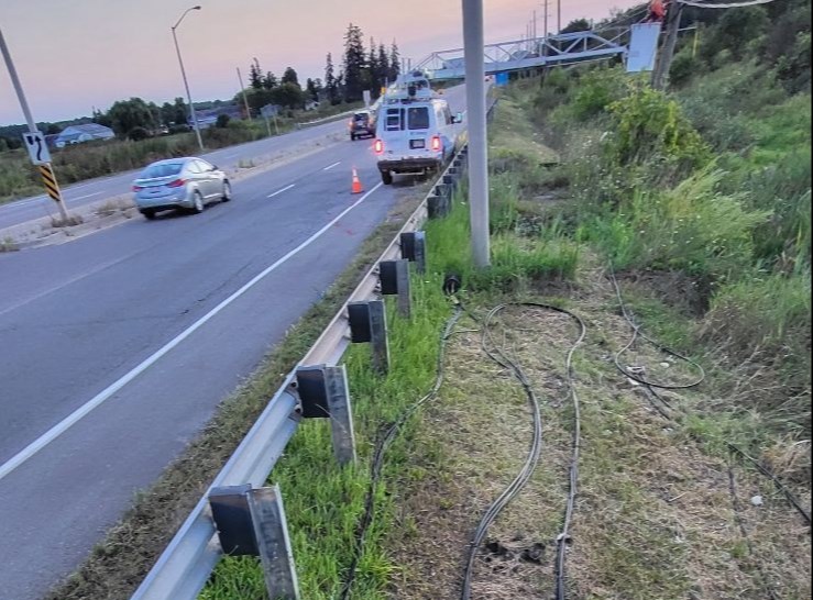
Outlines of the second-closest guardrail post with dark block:
[[299,367],[296,369],[296,381],[303,416],[330,419],[333,456],[342,466],[355,463],[353,410],[344,365]]

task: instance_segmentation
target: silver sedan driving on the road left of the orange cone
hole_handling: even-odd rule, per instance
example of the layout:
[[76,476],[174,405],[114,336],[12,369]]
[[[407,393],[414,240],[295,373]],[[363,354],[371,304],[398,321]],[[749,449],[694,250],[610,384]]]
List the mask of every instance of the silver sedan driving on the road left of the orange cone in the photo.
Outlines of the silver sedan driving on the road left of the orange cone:
[[204,212],[212,200],[231,200],[227,175],[202,158],[169,158],[146,167],[133,181],[139,212],[155,219],[162,210]]

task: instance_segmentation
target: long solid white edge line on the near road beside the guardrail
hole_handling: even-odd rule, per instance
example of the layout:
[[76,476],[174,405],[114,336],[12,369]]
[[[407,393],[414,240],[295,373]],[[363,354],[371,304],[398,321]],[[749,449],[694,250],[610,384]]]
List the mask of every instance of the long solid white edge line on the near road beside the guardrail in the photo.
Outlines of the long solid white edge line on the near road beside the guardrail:
[[219,312],[221,312],[224,308],[227,308],[229,304],[234,302],[238,298],[243,296],[246,291],[249,291],[251,288],[253,288],[255,285],[257,285],[260,281],[262,281],[270,273],[276,270],[281,265],[288,262],[290,258],[299,254],[301,251],[307,248],[310,244],[316,242],[319,237],[322,236],[322,234],[327,231],[329,231],[333,225],[336,225],[345,214],[348,214],[350,211],[352,211],[355,207],[361,204],[364,200],[366,200],[373,192],[375,192],[380,187],[382,187],[383,184],[378,182],[377,186],[375,186],[373,189],[371,189],[369,192],[366,192],[364,196],[359,198],[355,202],[350,204],[347,209],[341,211],[333,220],[331,220],[327,225],[325,225],[322,229],[320,229],[318,232],[316,232],[314,235],[308,237],[305,242],[299,244],[297,247],[295,247],[293,251],[288,252],[285,256],[276,260],[273,265],[268,266],[256,275],[251,281],[245,284],[242,288],[240,288],[238,291],[232,293],[229,298],[220,302],[217,307],[211,309],[209,312],[207,312],[204,316],[198,319],[195,323],[193,323],[187,330],[182,332],[177,337],[169,341],[166,345],[164,345],[160,351],[157,351],[155,354],[146,358],[143,363],[141,363],[139,366],[136,366],[134,369],[132,369],[130,373],[124,375],[121,379],[118,381],[111,384],[107,388],[105,388],[102,391],[100,391],[97,396],[88,400],[85,404],[76,409],[74,412],[72,412],[68,416],[59,421],[56,425],[51,427],[48,431],[43,433],[40,437],[34,440],[31,444],[25,446],[22,451],[20,451],[18,454],[12,456],[9,460],[0,465],[0,480],[6,478],[9,474],[11,474],[14,469],[17,469],[19,466],[21,466],[23,463],[29,460],[32,456],[34,456],[36,453],[39,453],[41,449],[43,449],[45,446],[51,444],[54,440],[59,437],[63,433],[68,431],[73,425],[75,425],[79,420],[81,420],[84,416],[86,416],[90,411],[102,404],[106,400],[110,399],[116,392],[118,392],[121,388],[127,386],[130,381],[135,379],[139,375],[144,373],[146,369],[149,369],[151,366],[153,366],[155,363],[157,363],[162,357],[164,357],[169,351],[175,348],[178,344],[180,344],[184,340],[189,337],[193,333],[195,333],[197,330],[199,330],[201,326],[204,326],[208,321],[213,319]]

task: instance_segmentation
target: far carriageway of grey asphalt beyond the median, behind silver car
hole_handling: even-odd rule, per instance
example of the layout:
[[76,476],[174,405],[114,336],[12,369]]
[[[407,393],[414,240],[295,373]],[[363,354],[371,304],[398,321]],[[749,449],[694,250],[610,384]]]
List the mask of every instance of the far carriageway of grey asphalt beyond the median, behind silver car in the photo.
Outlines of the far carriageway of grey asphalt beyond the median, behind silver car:
[[[218,167],[232,171],[241,160],[256,160],[262,157],[278,155],[304,142],[327,137],[332,134],[347,134],[347,120],[340,119],[331,123],[315,125],[285,135],[266,137],[248,144],[230,146],[200,156]],[[133,179],[139,170],[132,170],[74,184],[63,188],[63,197],[68,210],[89,202],[98,202],[122,193],[129,193]],[[56,173],[57,179],[59,173]],[[23,198],[15,202],[0,205],[0,230],[50,214],[56,214],[56,204],[44,195]]]

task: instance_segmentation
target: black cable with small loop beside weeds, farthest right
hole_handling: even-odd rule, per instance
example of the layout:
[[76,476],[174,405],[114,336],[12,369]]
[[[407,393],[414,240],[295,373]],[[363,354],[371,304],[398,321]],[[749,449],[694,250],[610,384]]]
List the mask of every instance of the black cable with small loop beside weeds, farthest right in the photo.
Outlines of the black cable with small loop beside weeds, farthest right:
[[[677,389],[693,388],[693,387],[699,386],[701,382],[703,382],[703,380],[705,379],[705,371],[703,370],[703,367],[701,367],[694,360],[691,360],[690,358],[686,358],[685,356],[683,356],[681,354],[678,354],[677,352],[673,352],[670,348],[667,348],[667,347],[662,346],[661,344],[655,342],[652,338],[650,338],[647,335],[645,335],[644,333],[641,333],[640,332],[640,325],[638,325],[637,323],[635,323],[635,321],[633,320],[631,315],[629,314],[629,311],[627,310],[626,303],[624,302],[624,297],[622,296],[622,292],[620,292],[620,287],[618,286],[618,280],[615,277],[615,273],[613,271],[612,265],[609,266],[609,279],[613,282],[613,286],[615,288],[615,295],[618,298],[618,305],[620,307],[622,314],[624,315],[624,319],[626,319],[626,321],[629,323],[629,326],[633,329],[633,337],[631,337],[631,340],[629,341],[629,343],[626,346],[624,346],[624,348],[622,348],[620,352],[616,353],[616,355],[615,355],[615,358],[614,358],[615,366],[625,376],[629,377],[634,381],[638,381],[639,384],[642,384],[645,386],[645,388],[644,388],[645,389],[645,392],[647,392],[648,395],[651,395],[649,397],[650,402],[656,408],[656,410],[661,414],[661,416],[663,416],[668,421],[675,422],[675,420],[672,418],[672,415],[666,413],[666,411],[663,411],[662,409],[660,409],[659,407],[657,407],[655,404],[655,402],[652,401],[652,398],[656,398],[656,399],[660,400],[661,402],[663,402],[667,407],[671,408],[669,405],[669,402],[662,396],[660,396],[655,390],[655,388],[667,389],[667,390],[677,390]],[[670,355],[672,355],[672,356],[674,356],[677,358],[680,358],[682,360],[685,360],[690,365],[694,366],[697,370],[700,370],[701,377],[696,381],[694,381],[692,384],[681,385],[681,386],[670,386],[670,385],[663,385],[663,384],[658,384],[658,382],[653,382],[653,381],[647,381],[647,380],[645,380],[642,378],[637,378],[637,377],[630,375],[627,371],[627,369],[624,369],[620,366],[620,364],[619,364],[619,356],[622,354],[624,354],[625,352],[627,352],[627,349],[629,349],[633,346],[633,344],[635,343],[635,341],[638,337],[640,337],[642,340],[646,340],[647,342],[649,342],[650,344],[652,344],[653,346],[656,346],[660,351],[666,352],[667,354],[670,354]],[[725,444],[726,444],[726,446],[730,451],[735,452],[736,454],[738,454],[743,458],[745,458],[745,459],[749,460],[750,463],[752,463],[757,467],[757,469],[759,469],[759,473],[761,473],[763,476],[766,476],[767,478],[769,478],[773,482],[773,485],[776,486],[776,488],[784,495],[784,497],[788,499],[788,502],[790,502],[791,505],[799,512],[799,514],[802,515],[802,518],[805,520],[805,522],[807,523],[807,525],[809,526],[811,525],[811,515],[810,515],[810,513],[807,511],[805,511],[804,508],[802,508],[802,504],[799,501],[799,499],[793,495],[793,492],[791,492],[788,488],[785,488],[782,485],[782,482],[777,478],[776,475],[773,475],[770,470],[768,470],[765,466],[762,466],[758,460],[756,460],[756,459],[751,458],[750,456],[748,456],[743,449],[740,449],[736,445],[734,445],[734,444],[732,444],[730,442],[727,442],[727,441],[725,442]]]

